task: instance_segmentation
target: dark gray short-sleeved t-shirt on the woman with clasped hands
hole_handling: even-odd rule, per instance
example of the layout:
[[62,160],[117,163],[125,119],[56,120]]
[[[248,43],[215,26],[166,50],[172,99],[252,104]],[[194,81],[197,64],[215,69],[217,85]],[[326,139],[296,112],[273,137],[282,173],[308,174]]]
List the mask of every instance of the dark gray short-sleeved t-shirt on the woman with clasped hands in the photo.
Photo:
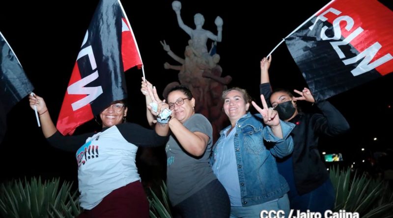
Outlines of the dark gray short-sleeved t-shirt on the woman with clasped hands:
[[172,135],[169,137],[165,151],[167,153],[168,194],[172,206],[217,179],[209,165],[209,155],[213,144],[212,125],[201,114],[194,114],[183,125],[191,132],[206,134],[210,139],[205,153],[198,158],[187,153]]

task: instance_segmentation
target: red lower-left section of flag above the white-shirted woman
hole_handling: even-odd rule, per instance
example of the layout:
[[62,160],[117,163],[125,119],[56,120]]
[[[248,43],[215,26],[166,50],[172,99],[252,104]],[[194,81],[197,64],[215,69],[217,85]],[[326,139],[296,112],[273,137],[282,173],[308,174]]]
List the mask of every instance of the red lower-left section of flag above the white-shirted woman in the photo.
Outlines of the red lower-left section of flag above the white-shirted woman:
[[[71,84],[81,80],[81,73],[79,72],[78,63],[75,63],[72,70],[71,79],[68,83]],[[73,111],[71,104],[86,97],[87,95],[69,95],[65,93],[63,104],[61,106],[60,114],[56,123],[57,130],[63,135],[72,135],[76,127],[94,118],[90,104]]]

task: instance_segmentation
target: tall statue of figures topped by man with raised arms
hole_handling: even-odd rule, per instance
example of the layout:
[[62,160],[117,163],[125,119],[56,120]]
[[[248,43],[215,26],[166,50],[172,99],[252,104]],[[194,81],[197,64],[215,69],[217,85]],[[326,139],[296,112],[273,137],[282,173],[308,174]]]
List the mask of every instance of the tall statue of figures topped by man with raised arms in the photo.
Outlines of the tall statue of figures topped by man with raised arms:
[[[165,41],[161,42],[164,50],[180,65],[171,65],[165,62],[165,69],[178,71],[179,82],[174,81],[167,85],[164,89],[163,96],[167,97],[168,90],[176,85],[183,85],[190,89],[197,103],[195,111],[203,114],[213,126],[213,141],[218,137],[219,131],[224,126],[227,117],[222,113],[221,94],[226,90],[226,85],[232,80],[229,75],[221,77],[223,69],[218,64],[220,55],[217,54],[217,42],[222,40],[223,19],[217,17],[215,24],[218,33],[214,35],[212,32],[203,29],[204,18],[197,13],[194,16],[195,29],[185,25],[180,16],[181,3],[177,0],[172,2],[172,8],[176,12],[177,22],[179,26],[190,35],[191,39],[184,50],[184,58],[176,55],[170,50],[169,45]],[[211,39],[214,42],[208,51],[206,43]]]

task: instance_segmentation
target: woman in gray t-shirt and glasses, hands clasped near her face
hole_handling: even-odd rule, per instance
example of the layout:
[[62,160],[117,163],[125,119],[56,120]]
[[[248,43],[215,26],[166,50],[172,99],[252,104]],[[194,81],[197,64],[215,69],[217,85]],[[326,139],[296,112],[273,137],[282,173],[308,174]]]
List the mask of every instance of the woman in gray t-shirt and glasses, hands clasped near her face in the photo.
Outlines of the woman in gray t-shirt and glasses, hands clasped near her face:
[[[150,83],[142,81],[141,92],[148,108],[150,98],[157,99],[155,88],[152,91],[156,97],[147,94],[149,87]],[[213,139],[210,122],[195,113],[195,99],[184,86],[170,89],[167,102],[171,110],[171,134],[165,147],[167,186],[175,213],[182,218],[228,218],[228,194],[209,165]],[[151,117],[148,121],[153,123]]]

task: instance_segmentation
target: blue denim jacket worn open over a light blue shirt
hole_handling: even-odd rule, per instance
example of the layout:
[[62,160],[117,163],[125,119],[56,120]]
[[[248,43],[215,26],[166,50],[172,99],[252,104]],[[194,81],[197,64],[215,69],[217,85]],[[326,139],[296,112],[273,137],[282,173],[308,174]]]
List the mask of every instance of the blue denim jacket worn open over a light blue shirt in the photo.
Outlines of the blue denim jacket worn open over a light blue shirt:
[[[263,123],[260,114],[252,115],[249,112],[236,123],[234,149],[243,206],[262,204],[289,191],[288,184],[277,170],[273,155],[282,158],[292,152],[293,141],[289,133],[295,124],[281,120],[280,124],[283,139],[274,136],[271,128]],[[227,128],[230,126],[225,129]],[[212,165],[224,130],[213,146]],[[263,140],[271,142],[273,146],[267,148]]]

